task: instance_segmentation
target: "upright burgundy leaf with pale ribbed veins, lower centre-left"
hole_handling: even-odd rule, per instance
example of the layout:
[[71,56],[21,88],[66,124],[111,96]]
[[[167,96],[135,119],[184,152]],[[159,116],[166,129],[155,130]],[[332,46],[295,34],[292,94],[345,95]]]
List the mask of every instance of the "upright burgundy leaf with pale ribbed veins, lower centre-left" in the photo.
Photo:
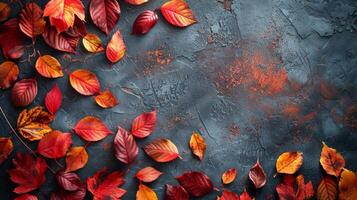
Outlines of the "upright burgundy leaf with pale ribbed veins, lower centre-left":
[[125,164],[131,164],[135,161],[139,153],[133,135],[124,128],[118,127],[117,135],[114,139],[115,157]]

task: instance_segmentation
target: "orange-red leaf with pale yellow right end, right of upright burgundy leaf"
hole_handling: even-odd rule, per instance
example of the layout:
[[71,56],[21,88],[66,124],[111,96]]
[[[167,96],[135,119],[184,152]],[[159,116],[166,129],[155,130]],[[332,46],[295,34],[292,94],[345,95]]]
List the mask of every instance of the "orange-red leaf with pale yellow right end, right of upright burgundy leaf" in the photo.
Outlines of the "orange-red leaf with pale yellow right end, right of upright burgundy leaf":
[[156,139],[144,150],[156,162],[170,162],[180,156],[177,147],[169,139]]

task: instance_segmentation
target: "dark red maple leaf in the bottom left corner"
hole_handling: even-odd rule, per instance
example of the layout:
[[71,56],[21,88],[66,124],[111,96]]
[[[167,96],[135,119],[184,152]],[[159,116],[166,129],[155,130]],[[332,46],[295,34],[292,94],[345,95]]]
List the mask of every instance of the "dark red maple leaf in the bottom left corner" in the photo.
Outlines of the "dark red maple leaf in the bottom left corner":
[[34,159],[30,154],[17,153],[12,162],[15,168],[8,173],[11,181],[19,184],[14,189],[15,193],[24,194],[36,190],[45,182],[47,164],[44,159]]

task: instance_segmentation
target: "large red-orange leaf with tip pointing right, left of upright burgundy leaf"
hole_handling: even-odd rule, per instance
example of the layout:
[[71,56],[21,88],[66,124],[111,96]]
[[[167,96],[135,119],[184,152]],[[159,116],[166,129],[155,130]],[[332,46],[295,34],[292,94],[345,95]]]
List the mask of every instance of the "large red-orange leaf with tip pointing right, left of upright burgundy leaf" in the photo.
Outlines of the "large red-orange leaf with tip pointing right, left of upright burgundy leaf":
[[100,119],[93,116],[79,120],[74,131],[87,141],[99,141],[112,133]]

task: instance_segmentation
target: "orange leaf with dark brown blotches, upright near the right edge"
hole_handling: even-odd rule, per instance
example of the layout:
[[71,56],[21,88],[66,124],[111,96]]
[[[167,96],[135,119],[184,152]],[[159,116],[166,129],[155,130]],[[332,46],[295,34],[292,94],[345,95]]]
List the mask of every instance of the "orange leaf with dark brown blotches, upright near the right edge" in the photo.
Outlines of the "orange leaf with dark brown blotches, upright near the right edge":
[[342,169],[345,167],[345,159],[336,151],[336,149],[328,147],[322,143],[322,151],[320,156],[320,164],[327,174],[339,177]]

